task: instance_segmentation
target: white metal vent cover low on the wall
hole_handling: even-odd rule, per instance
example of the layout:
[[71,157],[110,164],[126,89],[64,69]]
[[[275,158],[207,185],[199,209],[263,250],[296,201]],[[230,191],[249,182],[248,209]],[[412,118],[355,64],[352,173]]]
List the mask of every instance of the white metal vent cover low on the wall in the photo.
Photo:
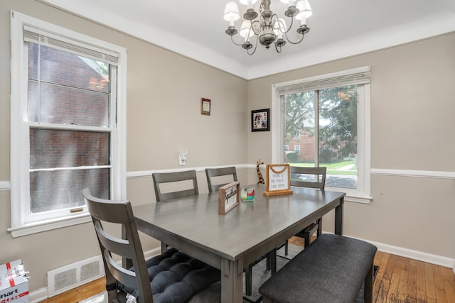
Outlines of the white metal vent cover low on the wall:
[[48,297],[66,292],[105,275],[101,255],[48,271]]

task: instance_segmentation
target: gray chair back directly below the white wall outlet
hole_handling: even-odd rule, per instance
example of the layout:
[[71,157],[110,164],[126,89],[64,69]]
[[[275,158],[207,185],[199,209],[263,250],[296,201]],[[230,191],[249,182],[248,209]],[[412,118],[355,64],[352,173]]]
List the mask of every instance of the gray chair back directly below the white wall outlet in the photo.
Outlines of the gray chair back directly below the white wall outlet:
[[[196,170],[184,170],[181,172],[155,172],[151,175],[151,177],[154,180],[156,202],[197,196],[199,194]],[[176,191],[163,191],[161,190],[161,186],[165,183],[173,183],[172,186],[184,189],[178,189]]]

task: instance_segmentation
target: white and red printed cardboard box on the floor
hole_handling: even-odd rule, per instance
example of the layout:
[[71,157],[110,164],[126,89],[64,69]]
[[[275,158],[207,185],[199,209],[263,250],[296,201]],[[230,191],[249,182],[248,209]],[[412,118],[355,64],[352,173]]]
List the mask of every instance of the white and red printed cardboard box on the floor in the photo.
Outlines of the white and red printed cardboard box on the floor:
[[28,279],[21,260],[0,265],[0,303],[28,303]]

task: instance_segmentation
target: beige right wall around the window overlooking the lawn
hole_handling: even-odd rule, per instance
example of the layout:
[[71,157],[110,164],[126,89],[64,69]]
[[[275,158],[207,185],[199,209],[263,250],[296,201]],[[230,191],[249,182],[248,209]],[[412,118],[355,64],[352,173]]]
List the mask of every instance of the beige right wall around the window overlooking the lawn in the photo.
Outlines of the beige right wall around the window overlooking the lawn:
[[[454,258],[455,180],[406,174],[455,172],[455,33],[251,80],[248,109],[271,107],[274,83],[365,65],[371,67],[373,202],[346,204],[344,232]],[[248,142],[248,162],[272,159],[270,133],[249,133]],[[376,174],[379,169],[390,172]]]

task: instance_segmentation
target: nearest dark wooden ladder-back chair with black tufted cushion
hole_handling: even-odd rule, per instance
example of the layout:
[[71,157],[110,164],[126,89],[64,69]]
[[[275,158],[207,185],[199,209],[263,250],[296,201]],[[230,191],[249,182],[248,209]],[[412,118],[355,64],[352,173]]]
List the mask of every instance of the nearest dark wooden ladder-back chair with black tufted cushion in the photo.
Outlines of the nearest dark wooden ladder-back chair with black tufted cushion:
[[[88,188],[82,195],[100,244],[109,303],[220,302],[220,270],[175,248],[146,261],[131,203],[93,197]],[[112,224],[122,227],[126,239],[109,233]],[[130,260],[132,268],[123,268],[112,255]]]

